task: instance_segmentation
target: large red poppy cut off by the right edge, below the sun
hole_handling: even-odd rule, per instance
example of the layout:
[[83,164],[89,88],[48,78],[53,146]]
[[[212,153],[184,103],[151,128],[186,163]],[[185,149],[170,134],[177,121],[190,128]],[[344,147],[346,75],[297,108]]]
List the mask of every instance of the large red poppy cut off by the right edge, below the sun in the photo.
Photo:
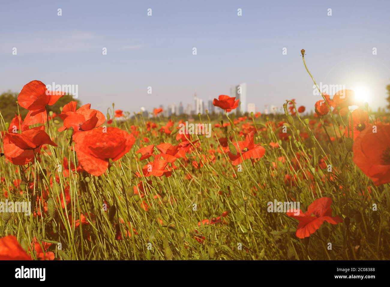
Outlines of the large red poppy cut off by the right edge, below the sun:
[[376,186],[390,182],[390,125],[360,132],[353,143],[353,161]]

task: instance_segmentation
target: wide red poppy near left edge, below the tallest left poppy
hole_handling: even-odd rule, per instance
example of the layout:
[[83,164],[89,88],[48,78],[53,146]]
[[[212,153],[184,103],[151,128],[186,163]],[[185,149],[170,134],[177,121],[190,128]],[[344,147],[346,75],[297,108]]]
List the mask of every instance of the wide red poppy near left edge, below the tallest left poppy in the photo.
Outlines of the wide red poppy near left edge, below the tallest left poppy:
[[57,146],[44,131],[44,126],[25,130],[21,134],[7,133],[4,136],[4,155],[13,164],[23,166],[34,159],[43,144]]

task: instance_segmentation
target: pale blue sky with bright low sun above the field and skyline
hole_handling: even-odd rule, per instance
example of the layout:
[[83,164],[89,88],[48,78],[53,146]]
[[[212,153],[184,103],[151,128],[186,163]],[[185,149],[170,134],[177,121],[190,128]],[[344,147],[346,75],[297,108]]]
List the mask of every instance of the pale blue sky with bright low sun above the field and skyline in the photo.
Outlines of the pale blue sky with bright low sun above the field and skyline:
[[35,79],[77,84],[82,103],[133,112],[192,103],[195,92],[207,101],[246,82],[247,103],[261,112],[289,98],[310,111],[320,98],[304,48],[318,83],[357,87],[377,109],[390,84],[389,11],[389,1],[356,0],[2,0],[0,93]]

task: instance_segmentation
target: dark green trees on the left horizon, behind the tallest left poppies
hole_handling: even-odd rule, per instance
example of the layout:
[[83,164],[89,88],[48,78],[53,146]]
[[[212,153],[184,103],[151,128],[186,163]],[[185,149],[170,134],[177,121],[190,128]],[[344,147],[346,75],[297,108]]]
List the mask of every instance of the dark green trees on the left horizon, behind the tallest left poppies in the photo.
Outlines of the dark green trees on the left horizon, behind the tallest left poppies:
[[[18,93],[7,91],[0,94],[0,112],[5,122],[10,122],[15,117],[15,115],[18,114],[18,105],[16,104],[17,101]],[[76,101],[77,107],[80,107],[81,102],[79,100],[73,99],[71,95],[65,95],[61,97],[54,105],[48,106],[48,111],[53,111],[56,114],[59,114],[61,112],[60,107],[64,107],[64,105],[72,101]],[[28,111],[22,107],[19,107],[19,111],[22,119],[24,119]]]

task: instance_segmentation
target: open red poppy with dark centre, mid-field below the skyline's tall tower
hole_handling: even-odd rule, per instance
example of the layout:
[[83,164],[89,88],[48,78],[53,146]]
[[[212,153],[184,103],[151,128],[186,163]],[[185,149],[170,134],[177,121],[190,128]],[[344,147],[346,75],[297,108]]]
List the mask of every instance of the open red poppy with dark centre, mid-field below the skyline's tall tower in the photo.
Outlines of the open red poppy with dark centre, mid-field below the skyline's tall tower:
[[232,144],[237,150],[237,155],[233,155],[230,150],[228,152],[229,159],[232,160],[234,166],[240,164],[243,160],[241,159],[240,151],[244,160],[246,159],[261,159],[265,154],[266,150],[260,144],[254,144],[254,132],[250,132],[246,135],[245,141],[232,141]]

